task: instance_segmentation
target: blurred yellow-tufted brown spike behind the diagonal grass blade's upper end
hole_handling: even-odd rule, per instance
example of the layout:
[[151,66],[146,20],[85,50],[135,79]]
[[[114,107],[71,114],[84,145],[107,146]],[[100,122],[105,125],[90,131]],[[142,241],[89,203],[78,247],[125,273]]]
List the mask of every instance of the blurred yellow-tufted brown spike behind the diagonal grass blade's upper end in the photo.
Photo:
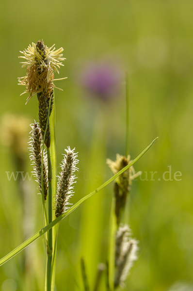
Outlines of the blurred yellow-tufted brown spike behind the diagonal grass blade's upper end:
[[[116,161],[113,162],[107,159],[107,164],[112,170],[113,174],[118,173],[124,167],[126,167],[130,162],[130,156],[126,158],[119,154],[116,155]],[[119,177],[115,179],[114,182],[114,195],[115,195],[115,214],[117,219],[117,225],[120,223],[121,213],[125,207],[126,198],[130,191],[130,186],[132,180],[141,175],[141,172],[135,173],[133,166],[129,167],[125,172],[123,172]]]

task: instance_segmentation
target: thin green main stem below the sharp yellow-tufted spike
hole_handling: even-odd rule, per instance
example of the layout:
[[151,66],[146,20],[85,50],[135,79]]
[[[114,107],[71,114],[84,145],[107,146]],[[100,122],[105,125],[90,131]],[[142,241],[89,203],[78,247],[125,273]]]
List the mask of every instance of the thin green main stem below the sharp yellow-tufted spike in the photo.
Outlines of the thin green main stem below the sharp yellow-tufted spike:
[[[52,222],[52,189],[51,189],[51,179],[52,179],[52,171],[51,171],[51,159],[49,148],[47,148],[48,154],[48,224]],[[52,228],[48,231],[48,245],[47,245],[47,291],[51,291],[51,273],[52,273]]]

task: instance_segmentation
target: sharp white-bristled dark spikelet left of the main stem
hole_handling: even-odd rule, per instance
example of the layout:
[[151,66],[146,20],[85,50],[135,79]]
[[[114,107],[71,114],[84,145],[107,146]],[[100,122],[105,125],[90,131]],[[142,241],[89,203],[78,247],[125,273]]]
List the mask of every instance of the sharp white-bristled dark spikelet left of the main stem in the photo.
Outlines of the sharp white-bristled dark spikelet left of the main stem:
[[[37,182],[39,184],[39,189],[42,194],[42,136],[41,130],[36,122],[31,125],[31,141],[30,141],[30,151],[32,154],[30,155],[30,160],[32,161],[33,166],[33,176],[37,178]],[[43,187],[44,187],[44,199],[46,200],[48,194],[48,160],[46,152],[44,152],[43,156]]]

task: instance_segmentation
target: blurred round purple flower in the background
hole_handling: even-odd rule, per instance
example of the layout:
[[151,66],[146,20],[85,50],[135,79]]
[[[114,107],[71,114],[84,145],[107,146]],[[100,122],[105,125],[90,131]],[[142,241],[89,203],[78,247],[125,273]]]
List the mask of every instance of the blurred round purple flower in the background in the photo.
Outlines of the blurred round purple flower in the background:
[[80,84],[92,96],[107,101],[116,97],[120,91],[120,69],[109,62],[89,63],[80,76]]

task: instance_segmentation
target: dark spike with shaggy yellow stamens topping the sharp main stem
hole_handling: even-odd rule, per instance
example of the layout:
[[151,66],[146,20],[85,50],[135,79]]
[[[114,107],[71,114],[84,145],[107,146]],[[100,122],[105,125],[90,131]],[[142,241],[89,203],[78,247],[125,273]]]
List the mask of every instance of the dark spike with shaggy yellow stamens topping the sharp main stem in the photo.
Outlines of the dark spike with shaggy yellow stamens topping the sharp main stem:
[[[64,49],[60,48],[55,50],[53,46],[48,48],[44,45],[43,40],[39,40],[37,44],[32,43],[32,46],[30,45],[28,49],[20,51],[24,56],[19,57],[26,60],[21,63],[22,67],[27,66],[26,76],[18,78],[19,84],[26,86],[24,93],[29,93],[26,103],[33,95],[37,94],[39,102],[39,124],[43,138],[47,120],[53,107],[53,88],[55,87],[53,83],[54,72],[59,73],[58,68],[63,65],[61,61],[64,61],[62,57]],[[47,147],[50,146],[49,120],[45,135],[45,145]]]

